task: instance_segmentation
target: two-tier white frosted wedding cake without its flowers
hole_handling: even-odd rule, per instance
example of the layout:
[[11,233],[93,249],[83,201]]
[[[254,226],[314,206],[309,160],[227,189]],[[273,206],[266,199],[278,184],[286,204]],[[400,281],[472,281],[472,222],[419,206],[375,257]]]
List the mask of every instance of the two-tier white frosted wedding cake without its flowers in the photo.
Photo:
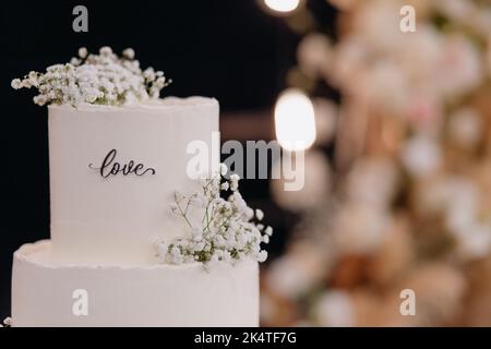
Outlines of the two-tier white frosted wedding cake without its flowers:
[[[106,56],[115,60],[112,52]],[[214,148],[217,100],[148,97],[119,104],[119,97],[99,94],[97,98],[115,103],[97,104],[84,93],[82,100],[70,99],[70,91],[61,97],[49,95],[48,88],[39,87],[46,82],[39,76],[29,74],[27,82],[12,85],[34,86],[48,96],[35,100],[49,104],[51,239],[14,253],[12,325],[258,326],[258,258],[237,249],[231,254],[217,250],[218,257],[211,256],[218,243],[194,250],[176,243],[170,244],[173,250],[168,248],[171,241],[190,239],[169,206],[176,192],[190,194],[200,186],[187,174],[192,156],[187,147],[200,141]],[[85,81],[76,79],[77,86]],[[147,76],[143,79],[148,87]],[[213,165],[218,159],[219,154],[209,155]],[[165,253],[194,254],[181,258],[184,262],[163,262],[156,241],[167,242]]]

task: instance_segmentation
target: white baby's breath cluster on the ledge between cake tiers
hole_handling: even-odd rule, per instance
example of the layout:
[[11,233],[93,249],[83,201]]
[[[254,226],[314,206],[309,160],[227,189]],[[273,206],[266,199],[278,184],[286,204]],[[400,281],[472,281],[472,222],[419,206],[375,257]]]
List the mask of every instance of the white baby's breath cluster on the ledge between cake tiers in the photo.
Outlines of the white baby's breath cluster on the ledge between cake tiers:
[[[246,204],[238,191],[239,176],[231,174],[226,180],[226,172],[227,167],[221,164],[220,172],[203,180],[197,193],[191,196],[175,194],[171,210],[183,218],[190,233],[170,243],[157,242],[157,256],[163,263],[266,260],[267,252],[261,250],[261,243],[270,242],[273,229],[260,222],[264,216],[261,209],[253,210]],[[220,196],[223,192],[231,192],[228,200]],[[200,226],[188,217],[192,207],[204,210]]]

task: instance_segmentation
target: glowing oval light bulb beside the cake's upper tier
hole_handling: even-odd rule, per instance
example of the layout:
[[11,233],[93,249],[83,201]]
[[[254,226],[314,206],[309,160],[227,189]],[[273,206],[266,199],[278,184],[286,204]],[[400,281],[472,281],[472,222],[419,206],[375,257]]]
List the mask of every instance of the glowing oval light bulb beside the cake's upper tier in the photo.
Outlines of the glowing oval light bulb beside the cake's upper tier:
[[312,101],[301,91],[282,93],[275,106],[278,143],[287,151],[303,151],[315,141],[315,118]]

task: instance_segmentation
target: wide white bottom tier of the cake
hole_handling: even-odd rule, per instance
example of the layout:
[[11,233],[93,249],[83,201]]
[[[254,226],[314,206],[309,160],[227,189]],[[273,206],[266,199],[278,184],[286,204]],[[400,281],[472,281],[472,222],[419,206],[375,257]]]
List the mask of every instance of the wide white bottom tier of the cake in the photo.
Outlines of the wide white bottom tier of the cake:
[[253,261],[139,267],[61,265],[50,241],[21,246],[13,326],[258,326]]

